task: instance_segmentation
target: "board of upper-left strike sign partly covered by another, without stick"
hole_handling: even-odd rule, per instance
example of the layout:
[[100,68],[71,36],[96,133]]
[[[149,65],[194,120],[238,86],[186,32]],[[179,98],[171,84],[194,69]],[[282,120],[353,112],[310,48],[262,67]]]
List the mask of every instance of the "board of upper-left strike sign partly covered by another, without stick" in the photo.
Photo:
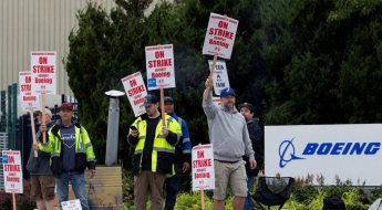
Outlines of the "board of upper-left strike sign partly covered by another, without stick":
[[39,95],[32,94],[31,72],[19,72],[21,109],[23,112],[41,108]]

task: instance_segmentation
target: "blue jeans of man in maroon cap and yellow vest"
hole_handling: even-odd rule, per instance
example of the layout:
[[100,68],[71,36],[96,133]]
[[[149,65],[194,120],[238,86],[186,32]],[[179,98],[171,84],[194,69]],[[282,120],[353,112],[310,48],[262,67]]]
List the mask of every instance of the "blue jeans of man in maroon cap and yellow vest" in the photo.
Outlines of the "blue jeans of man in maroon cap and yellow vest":
[[60,210],[62,209],[61,202],[68,201],[69,181],[72,183],[75,198],[80,199],[82,209],[89,210],[84,172],[63,172],[55,178]]

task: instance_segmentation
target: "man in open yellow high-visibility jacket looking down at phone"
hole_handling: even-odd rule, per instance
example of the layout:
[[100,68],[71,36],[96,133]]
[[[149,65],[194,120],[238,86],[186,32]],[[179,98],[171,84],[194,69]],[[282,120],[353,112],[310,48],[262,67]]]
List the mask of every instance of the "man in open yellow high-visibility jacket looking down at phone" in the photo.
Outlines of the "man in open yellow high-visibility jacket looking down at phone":
[[175,146],[180,141],[182,129],[168,115],[165,115],[165,125],[163,125],[158,103],[155,95],[145,96],[147,117],[135,119],[127,136],[128,144],[135,147],[133,174],[136,210],[146,210],[148,193],[152,209],[162,210],[166,176],[175,174]]

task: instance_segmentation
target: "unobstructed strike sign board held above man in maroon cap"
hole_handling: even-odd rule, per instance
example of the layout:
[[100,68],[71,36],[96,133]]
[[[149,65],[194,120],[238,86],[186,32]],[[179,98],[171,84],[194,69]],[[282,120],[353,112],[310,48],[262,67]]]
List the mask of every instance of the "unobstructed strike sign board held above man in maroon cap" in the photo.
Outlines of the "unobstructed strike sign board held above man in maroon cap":
[[56,94],[55,52],[31,52],[33,94]]

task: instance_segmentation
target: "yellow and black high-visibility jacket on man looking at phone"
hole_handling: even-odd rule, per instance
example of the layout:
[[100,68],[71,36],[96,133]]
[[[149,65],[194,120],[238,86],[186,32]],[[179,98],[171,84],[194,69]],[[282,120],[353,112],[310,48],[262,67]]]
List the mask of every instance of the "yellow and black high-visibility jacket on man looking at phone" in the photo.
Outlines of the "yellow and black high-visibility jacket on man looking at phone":
[[[166,115],[165,119],[168,130],[177,135],[177,143],[172,145],[166,140],[162,133],[162,120],[159,120],[155,129],[155,139],[153,143],[154,145],[152,151],[152,171],[166,175],[174,175],[175,146],[180,140],[182,128],[180,125],[173,117]],[[146,140],[147,122],[138,117],[132,126],[135,126],[140,133],[138,143],[135,146],[133,158],[133,165],[136,166],[136,168],[133,168],[133,170],[134,172],[138,174],[141,172],[142,168],[142,154]]]

